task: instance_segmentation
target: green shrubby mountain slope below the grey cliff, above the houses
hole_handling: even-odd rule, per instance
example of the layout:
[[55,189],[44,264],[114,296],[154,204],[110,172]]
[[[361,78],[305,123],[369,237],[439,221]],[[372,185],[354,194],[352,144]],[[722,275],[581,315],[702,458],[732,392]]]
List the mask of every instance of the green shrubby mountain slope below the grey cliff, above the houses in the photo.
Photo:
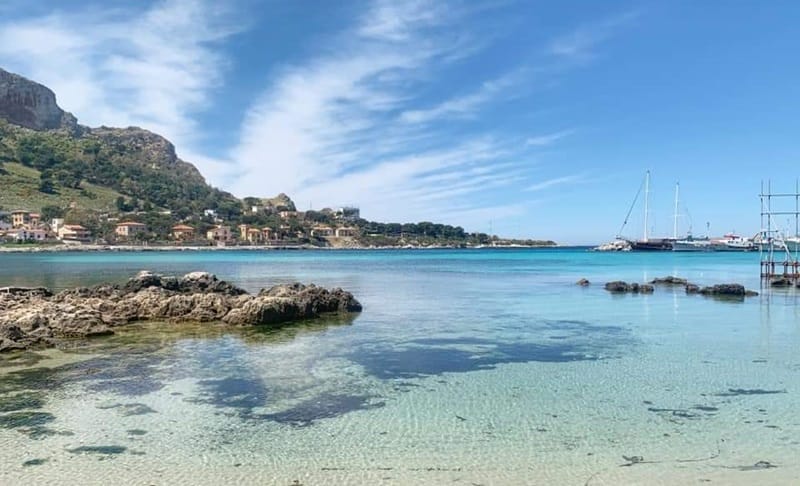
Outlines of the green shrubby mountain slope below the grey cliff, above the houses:
[[130,205],[127,210],[160,207],[188,216],[210,208],[229,218],[241,214],[235,197],[206,184],[193,166],[175,157],[166,140],[144,130],[103,129],[97,135],[73,136],[0,121],[0,162],[36,170],[35,189],[45,195],[74,197],[72,191],[78,191],[91,199],[92,186],[111,189],[118,195],[114,205],[104,202],[108,209],[121,209],[116,201],[122,195]]

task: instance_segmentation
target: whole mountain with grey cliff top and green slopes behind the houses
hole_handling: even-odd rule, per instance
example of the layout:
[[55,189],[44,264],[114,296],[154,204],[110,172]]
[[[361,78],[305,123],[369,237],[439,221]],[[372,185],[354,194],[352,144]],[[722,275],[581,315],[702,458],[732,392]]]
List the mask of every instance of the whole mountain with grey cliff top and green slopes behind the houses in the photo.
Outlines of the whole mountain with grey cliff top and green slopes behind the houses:
[[[241,212],[239,199],[207,184],[194,165],[178,158],[175,146],[164,137],[137,127],[80,125],[58,106],[49,88],[3,69],[0,164],[6,165],[0,184],[11,188],[0,195],[0,206],[6,210],[16,207],[5,206],[26,199],[34,204],[25,209],[37,210],[36,201],[44,198],[56,205],[88,209],[165,208],[183,217],[204,209],[216,209],[224,216]],[[3,180],[11,172],[14,184]],[[26,184],[20,180],[25,174],[39,180]],[[33,194],[32,184],[39,194]],[[96,201],[98,187],[118,193],[116,199],[122,196],[122,200],[117,204],[115,199],[115,207],[93,207],[97,205],[90,202]]]

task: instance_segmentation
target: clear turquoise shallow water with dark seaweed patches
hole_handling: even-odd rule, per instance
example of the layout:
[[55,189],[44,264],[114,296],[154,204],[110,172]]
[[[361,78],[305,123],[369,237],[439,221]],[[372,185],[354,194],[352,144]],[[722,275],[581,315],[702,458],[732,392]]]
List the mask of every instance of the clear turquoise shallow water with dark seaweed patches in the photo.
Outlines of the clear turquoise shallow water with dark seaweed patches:
[[142,326],[0,356],[0,483],[800,481],[794,290],[726,302],[602,289],[679,275],[758,290],[756,254],[13,254],[0,285],[141,269],[208,270],[253,291],[341,286],[365,310],[270,332]]

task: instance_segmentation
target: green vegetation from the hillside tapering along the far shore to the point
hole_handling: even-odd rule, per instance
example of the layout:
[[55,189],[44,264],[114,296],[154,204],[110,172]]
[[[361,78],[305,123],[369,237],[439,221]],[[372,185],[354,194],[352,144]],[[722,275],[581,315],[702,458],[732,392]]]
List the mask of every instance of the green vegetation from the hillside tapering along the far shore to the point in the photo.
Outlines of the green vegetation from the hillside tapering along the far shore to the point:
[[[312,227],[320,224],[356,227],[354,239],[334,241],[345,246],[553,244],[499,240],[427,221],[337,219],[327,209],[283,219],[278,211],[296,210],[287,195],[239,200],[206,184],[194,166],[177,158],[167,140],[138,128],[102,127],[73,134],[33,131],[0,120],[0,188],[0,210],[40,212],[43,222],[64,218],[67,224],[84,226],[94,239],[110,243],[117,241],[116,223],[125,220],[147,226],[129,242],[169,241],[172,226],[180,222],[191,225],[197,243],[203,244],[206,231],[222,222],[235,233],[240,224],[268,227],[286,243],[320,246],[329,242],[310,236]],[[216,215],[204,214],[208,209]]]

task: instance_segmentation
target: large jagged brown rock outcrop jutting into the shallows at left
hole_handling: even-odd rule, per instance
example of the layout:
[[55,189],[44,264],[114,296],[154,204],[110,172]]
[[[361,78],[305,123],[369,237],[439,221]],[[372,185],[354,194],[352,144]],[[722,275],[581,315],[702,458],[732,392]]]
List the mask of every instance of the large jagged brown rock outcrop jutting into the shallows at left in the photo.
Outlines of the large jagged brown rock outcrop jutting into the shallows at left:
[[100,336],[135,321],[223,322],[279,326],[326,313],[360,312],[353,294],[300,283],[248,294],[206,272],[182,277],[140,272],[124,285],[101,284],[54,294],[46,288],[0,288],[0,352],[56,346]]

